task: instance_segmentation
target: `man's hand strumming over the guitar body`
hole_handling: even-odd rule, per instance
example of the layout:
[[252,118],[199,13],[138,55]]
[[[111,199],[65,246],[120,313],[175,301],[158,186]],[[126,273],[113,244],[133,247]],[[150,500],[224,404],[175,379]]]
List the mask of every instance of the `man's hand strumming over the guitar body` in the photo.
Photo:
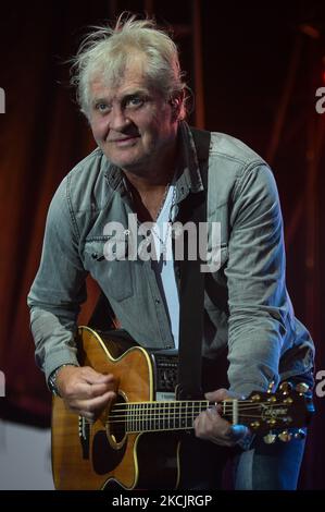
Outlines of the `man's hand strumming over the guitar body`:
[[90,420],[116,399],[114,376],[99,374],[90,366],[63,366],[58,371],[57,386],[67,409]]

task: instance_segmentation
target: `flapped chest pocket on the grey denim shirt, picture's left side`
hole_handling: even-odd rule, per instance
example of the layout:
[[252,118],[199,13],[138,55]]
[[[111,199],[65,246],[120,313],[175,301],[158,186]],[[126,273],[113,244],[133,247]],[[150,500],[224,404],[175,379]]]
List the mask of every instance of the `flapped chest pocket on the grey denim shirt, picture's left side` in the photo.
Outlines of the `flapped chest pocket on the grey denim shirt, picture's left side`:
[[111,239],[98,236],[86,240],[85,267],[108,298],[121,302],[134,294],[132,261],[127,258],[127,241],[114,236],[114,244],[108,251]]

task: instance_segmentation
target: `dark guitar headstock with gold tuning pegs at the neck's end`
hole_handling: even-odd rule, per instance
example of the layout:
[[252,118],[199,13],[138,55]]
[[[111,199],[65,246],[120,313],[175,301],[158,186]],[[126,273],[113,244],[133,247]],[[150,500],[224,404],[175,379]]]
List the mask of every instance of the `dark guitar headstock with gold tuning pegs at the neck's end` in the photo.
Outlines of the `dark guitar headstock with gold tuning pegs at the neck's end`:
[[276,438],[287,442],[305,436],[301,428],[309,424],[313,413],[308,385],[300,382],[293,388],[290,382],[283,382],[275,393],[271,385],[267,392],[253,391],[246,400],[238,401],[236,423],[264,435],[267,443]]

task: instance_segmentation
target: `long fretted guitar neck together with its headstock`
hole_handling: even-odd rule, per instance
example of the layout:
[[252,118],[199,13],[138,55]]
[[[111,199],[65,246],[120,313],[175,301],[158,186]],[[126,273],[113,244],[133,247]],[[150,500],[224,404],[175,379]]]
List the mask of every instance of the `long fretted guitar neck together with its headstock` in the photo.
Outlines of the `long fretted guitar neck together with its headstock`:
[[[126,434],[162,430],[189,430],[196,417],[215,402],[166,401],[123,402],[111,410],[108,423]],[[253,430],[305,426],[314,412],[311,399],[302,394],[252,393],[246,400],[228,399],[220,402],[218,413],[233,425],[240,423]]]

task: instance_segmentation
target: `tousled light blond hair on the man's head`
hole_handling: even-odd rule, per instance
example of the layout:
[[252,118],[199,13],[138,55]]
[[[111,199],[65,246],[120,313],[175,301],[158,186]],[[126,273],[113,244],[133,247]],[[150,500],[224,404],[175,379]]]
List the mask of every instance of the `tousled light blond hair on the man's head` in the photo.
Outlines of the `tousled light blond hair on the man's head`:
[[116,85],[135,52],[146,56],[145,77],[164,99],[182,98],[179,118],[185,117],[184,90],[178,50],[172,38],[152,19],[137,20],[123,13],[115,26],[92,27],[73,59],[72,83],[77,87],[80,110],[89,117],[90,83],[99,75]]

